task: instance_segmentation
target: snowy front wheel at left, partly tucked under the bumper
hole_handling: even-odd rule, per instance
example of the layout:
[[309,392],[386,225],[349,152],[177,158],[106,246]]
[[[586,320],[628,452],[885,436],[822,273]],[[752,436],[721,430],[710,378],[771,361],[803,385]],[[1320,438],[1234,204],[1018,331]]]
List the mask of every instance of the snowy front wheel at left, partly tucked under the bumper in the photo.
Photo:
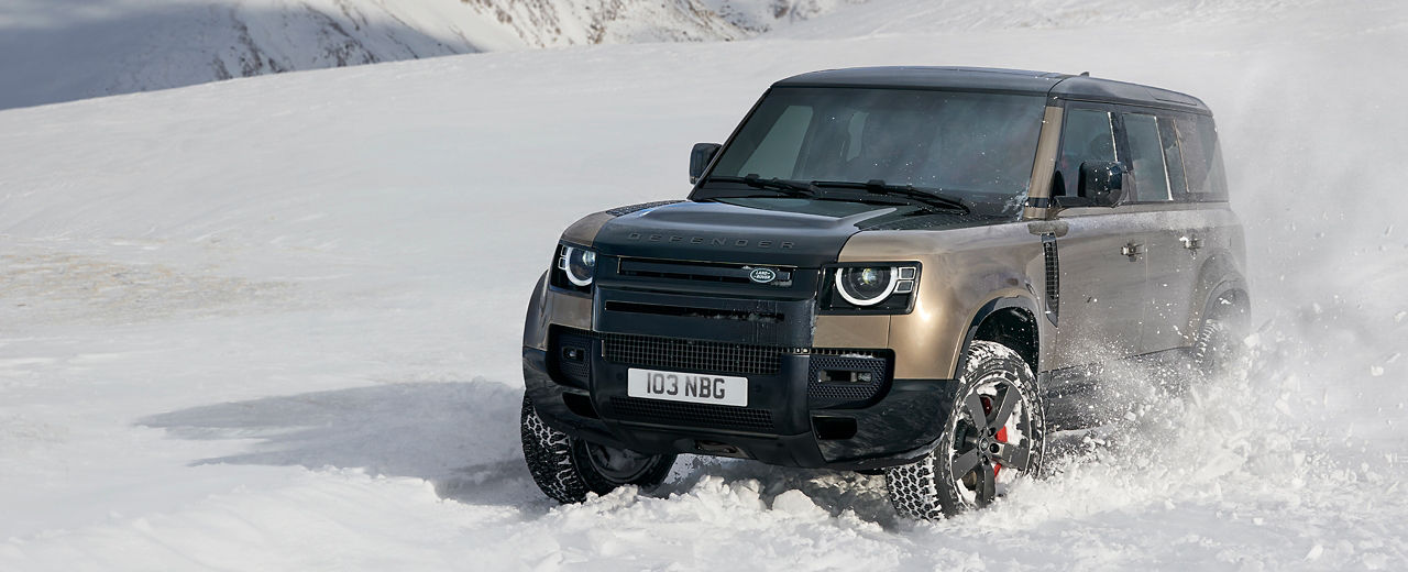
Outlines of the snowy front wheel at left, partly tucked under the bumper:
[[542,423],[524,394],[520,433],[528,472],[559,503],[580,503],[622,485],[653,489],[674,465],[674,455],[646,455],[574,438]]

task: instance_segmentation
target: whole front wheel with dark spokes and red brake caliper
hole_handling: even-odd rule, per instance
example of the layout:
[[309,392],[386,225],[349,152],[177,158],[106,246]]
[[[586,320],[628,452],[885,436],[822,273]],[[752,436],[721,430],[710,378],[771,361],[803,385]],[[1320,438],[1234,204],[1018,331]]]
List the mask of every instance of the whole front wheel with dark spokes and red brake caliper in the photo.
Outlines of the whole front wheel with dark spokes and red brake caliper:
[[938,518],[984,507],[1022,475],[1036,475],[1046,418],[1032,369],[1011,348],[974,341],[939,442],[919,461],[886,469],[900,514]]

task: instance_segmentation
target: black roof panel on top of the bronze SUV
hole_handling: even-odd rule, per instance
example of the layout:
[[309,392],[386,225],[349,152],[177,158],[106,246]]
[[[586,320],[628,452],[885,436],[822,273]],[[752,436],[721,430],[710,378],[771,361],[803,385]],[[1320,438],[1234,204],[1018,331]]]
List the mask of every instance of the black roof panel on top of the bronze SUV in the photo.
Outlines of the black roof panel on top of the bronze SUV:
[[1209,113],[1186,93],[1069,73],[995,68],[848,68],[783,79],[777,87],[898,87],[1049,94],[1069,100],[1132,103]]

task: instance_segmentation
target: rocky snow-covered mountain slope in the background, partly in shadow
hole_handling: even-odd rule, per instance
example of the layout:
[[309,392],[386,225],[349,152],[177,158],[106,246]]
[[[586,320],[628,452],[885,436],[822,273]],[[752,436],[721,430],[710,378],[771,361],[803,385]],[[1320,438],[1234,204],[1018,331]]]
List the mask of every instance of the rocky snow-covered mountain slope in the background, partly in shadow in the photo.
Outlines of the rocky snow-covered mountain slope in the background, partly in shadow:
[[451,54],[739,39],[843,0],[10,0],[0,108]]

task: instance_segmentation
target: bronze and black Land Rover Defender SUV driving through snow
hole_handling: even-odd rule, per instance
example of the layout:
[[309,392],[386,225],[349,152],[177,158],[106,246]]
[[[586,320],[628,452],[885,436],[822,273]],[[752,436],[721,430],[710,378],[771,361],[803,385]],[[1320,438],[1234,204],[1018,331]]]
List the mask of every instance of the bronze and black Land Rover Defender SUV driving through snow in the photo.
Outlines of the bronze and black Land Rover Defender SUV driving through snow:
[[918,518],[981,507],[1098,423],[1102,365],[1217,369],[1246,327],[1212,116],[1181,93],[804,73],[694,145],[690,182],[570,225],[534,290],[522,445],[559,502],[696,454],[883,472]]

